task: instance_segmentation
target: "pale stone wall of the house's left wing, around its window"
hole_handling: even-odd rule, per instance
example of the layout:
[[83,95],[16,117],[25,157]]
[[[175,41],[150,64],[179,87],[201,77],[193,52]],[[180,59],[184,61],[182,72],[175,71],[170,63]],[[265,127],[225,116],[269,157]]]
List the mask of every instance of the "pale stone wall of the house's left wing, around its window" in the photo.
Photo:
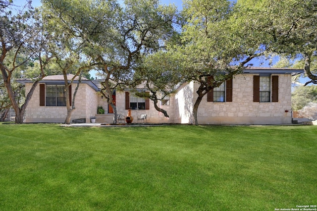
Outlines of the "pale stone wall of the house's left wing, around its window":
[[[72,85],[72,95],[75,92],[77,84]],[[29,92],[32,84],[27,83],[25,86],[26,93]],[[40,106],[40,86],[34,90],[32,98],[25,111],[26,123],[32,122],[48,122],[62,123],[67,115],[66,106]],[[72,113],[73,119],[86,118],[86,122],[90,122],[90,116],[94,116],[96,111],[92,111],[92,107],[97,110],[96,92],[87,84],[80,84],[75,99],[76,109]]]

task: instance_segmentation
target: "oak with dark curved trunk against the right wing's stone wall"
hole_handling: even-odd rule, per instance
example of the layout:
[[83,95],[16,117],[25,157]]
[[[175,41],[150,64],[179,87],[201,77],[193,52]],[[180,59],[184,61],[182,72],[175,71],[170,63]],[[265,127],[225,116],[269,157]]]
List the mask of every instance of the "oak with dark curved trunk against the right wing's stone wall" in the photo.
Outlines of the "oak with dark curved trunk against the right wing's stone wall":
[[243,7],[230,0],[185,1],[181,45],[170,45],[168,50],[182,55],[185,80],[199,84],[194,124],[198,124],[197,109],[202,98],[266,51],[262,47],[264,37],[247,27],[250,17],[243,16],[243,12]]

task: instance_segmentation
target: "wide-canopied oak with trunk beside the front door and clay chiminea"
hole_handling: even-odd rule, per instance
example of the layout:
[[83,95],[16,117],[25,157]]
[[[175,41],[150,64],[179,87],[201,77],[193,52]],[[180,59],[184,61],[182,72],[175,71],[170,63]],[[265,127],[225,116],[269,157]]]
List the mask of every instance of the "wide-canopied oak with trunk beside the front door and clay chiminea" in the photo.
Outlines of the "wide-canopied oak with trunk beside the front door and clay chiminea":
[[174,31],[176,8],[159,0],[125,0],[124,6],[114,0],[43,0],[43,5],[57,53],[79,52],[84,56],[78,58],[91,60],[105,78],[101,92],[112,106],[113,89],[133,84],[142,57],[161,48]]

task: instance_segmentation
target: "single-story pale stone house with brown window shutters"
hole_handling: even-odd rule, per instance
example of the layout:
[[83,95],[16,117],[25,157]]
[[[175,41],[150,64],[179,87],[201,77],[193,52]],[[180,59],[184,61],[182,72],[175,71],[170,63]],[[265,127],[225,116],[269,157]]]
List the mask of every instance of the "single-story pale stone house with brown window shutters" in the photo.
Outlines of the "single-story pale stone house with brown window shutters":
[[[299,69],[286,68],[246,68],[242,74],[224,82],[206,95],[198,108],[199,124],[290,124],[291,78],[303,73]],[[72,75],[68,76],[71,79]],[[20,79],[26,93],[32,80]],[[78,80],[71,87],[73,94]],[[26,108],[25,122],[64,122],[66,117],[65,92],[62,75],[47,76],[40,81]],[[149,99],[138,98],[129,90],[114,92],[113,100],[117,113],[127,115],[132,108],[134,122],[137,116],[147,114],[149,123],[192,123],[193,106],[197,99],[199,85],[189,82],[180,85],[174,95],[165,98],[160,105],[169,118],[158,112]],[[90,122],[112,123],[113,111],[106,99],[99,93],[98,83],[82,78],[75,99],[73,119],[84,118]],[[146,91],[140,89],[140,91]],[[97,107],[103,106],[105,114],[97,114]]]

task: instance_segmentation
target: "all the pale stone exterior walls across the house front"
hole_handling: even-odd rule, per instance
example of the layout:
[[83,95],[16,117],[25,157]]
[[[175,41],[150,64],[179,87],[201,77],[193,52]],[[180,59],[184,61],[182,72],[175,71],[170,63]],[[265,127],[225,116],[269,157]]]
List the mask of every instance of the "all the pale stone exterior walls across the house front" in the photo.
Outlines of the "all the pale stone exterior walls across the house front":
[[[278,102],[255,103],[253,102],[253,74],[236,75],[233,79],[232,102],[207,102],[205,96],[198,108],[199,124],[290,124],[291,117],[291,75],[279,74]],[[77,84],[72,85],[72,94]],[[26,93],[32,84],[26,84]],[[183,84],[177,89],[177,93],[170,97],[169,106],[162,106],[169,115],[159,115],[150,100],[149,110],[132,110],[134,123],[137,117],[147,114],[149,123],[193,123],[192,110],[197,99],[196,90],[199,85],[194,82]],[[39,106],[39,86],[26,108],[25,122],[64,122],[66,106]],[[87,84],[80,84],[77,92],[72,119],[86,118],[97,113],[97,106],[103,106],[108,114],[106,99],[102,99]],[[158,105],[159,106],[159,105]],[[127,115],[125,109],[125,92],[116,92],[116,109],[118,114]],[[286,112],[288,111],[288,112]],[[110,123],[110,122],[109,122]]]

